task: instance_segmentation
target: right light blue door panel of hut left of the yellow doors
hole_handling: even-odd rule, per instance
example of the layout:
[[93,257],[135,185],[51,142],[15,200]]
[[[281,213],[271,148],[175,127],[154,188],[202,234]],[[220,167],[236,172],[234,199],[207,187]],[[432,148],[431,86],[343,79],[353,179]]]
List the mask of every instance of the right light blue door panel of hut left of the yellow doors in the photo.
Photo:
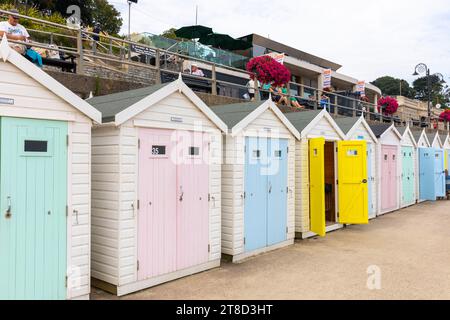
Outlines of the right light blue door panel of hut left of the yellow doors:
[[286,240],[288,140],[270,139],[268,159],[267,245],[271,246]]

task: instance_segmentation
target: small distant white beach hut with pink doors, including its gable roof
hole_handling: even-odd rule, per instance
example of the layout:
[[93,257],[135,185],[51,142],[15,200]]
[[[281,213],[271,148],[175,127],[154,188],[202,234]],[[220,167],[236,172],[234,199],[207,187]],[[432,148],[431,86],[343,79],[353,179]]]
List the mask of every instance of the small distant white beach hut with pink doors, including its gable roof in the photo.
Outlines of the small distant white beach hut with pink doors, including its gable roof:
[[381,215],[400,208],[402,136],[394,124],[376,124],[370,128],[378,138],[378,214]]

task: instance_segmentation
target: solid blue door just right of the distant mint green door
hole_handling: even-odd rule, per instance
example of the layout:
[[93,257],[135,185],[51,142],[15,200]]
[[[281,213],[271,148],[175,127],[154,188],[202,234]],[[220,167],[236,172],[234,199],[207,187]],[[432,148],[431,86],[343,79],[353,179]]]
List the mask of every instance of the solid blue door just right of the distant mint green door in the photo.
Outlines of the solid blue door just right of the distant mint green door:
[[435,150],[419,148],[419,191],[420,200],[436,200],[435,191]]

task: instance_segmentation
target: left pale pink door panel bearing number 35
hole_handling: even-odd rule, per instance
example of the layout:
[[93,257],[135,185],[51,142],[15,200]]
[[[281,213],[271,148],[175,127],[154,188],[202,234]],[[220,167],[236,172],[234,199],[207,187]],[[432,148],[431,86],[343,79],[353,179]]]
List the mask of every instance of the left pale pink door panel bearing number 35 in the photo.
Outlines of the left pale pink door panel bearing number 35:
[[139,130],[138,279],[177,269],[174,130]]

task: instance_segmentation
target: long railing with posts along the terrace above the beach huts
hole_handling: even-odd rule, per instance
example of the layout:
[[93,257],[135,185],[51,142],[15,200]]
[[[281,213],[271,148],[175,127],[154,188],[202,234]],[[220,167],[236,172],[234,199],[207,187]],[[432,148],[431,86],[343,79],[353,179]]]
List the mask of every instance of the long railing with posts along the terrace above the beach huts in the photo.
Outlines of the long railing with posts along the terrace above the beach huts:
[[[42,20],[42,19],[38,19],[38,18],[33,18],[33,17],[29,17],[26,15],[21,15],[21,14],[16,14],[16,13],[11,13],[7,10],[1,10],[0,9],[0,16],[1,15],[9,15],[9,14],[13,14],[15,16],[18,16],[20,18],[23,19],[27,19],[30,21],[34,21],[46,26],[51,26],[51,27],[56,27],[56,28],[60,28],[61,30],[67,30],[70,31],[69,34],[62,34],[62,33],[58,33],[58,32],[51,32],[51,31],[45,31],[45,30],[35,30],[35,29],[30,29],[30,32],[33,33],[40,33],[43,35],[50,35],[50,36],[54,36],[54,37],[60,37],[60,38],[66,38],[66,39],[71,39],[71,40],[76,40],[77,44],[75,47],[71,48],[71,47],[64,47],[64,46],[58,46],[57,48],[53,48],[50,47],[48,45],[45,44],[40,44],[40,43],[36,43],[36,42],[21,42],[21,41],[14,41],[14,40],[9,40],[11,43],[18,43],[18,44],[23,44],[23,45],[32,45],[38,48],[43,48],[43,49],[48,49],[48,50],[53,50],[53,51],[58,51],[58,52],[62,52],[62,53],[66,53],[66,54],[70,54],[70,55],[74,55],[77,59],[78,59],[78,68],[77,68],[77,72],[83,74],[84,73],[84,61],[85,58],[89,58],[89,59],[98,59],[98,60],[103,60],[106,62],[113,62],[113,63],[119,63],[121,65],[124,66],[132,66],[132,67],[138,67],[138,68],[145,68],[145,69],[149,69],[149,70],[154,70],[157,72],[158,75],[161,74],[161,72],[166,72],[166,73],[178,73],[179,71],[183,71],[183,70],[179,70],[179,71],[174,71],[171,69],[167,68],[167,65],[170,63],[168,62],[167,58],[168,57],[177,57],[178,59],[180,59],[179,62],[181,62],[181,60],[188,60],[190,62],[199,62],[202,63],[206,66],[208,66],[208,68],[210,68],[210,70],[212,71],[212,77],[211,78],[207,78],[207,77],[196,77],[194,75],[191,74],[184,74],[186,76],[189,76],[191,78],[198,78],[198,79],[204,79],[206,80],[208,83],[210,83],[212,85],[212,89],[211,92],[213,94],[217,94],[217,85],[222,84],[222,85],[229,85],[229,86],[235,86],[235,87],[239,87],[242,89],[248,89],[247,86],[241,85],[241,84],[237,84],[237,83],[232,83],[229,81],[224,81],[224,80],[218,80],[216,73],[217,73],[217,67],[222,68],[223,70],[228,70],[231,72],[237,72],[239,74],[242,75],[243,79],[247,79],[247,77],[249,76],[249,73],[245,70],[242,69],[238,69],[238,68],[234,68],[231,66],[226,66],[226,65],[220,65],[211,61],[207,61],[201,58],[197,58],[197,57],[192,57],[189,55],[185,55],[179,52],[173,52],[173,51],[169,51],[166,49],[161,49],[161,48],[157,48],[157,47],[153,47],[150,45],[147,45],[145,43],[140,43],[140,42],[134,42],[131,41],[129,39],[124,39],[124,38],[119,38],[119,37],[115,37],[115,36],[111,36],[105,33],[96,33],[96,32],[92,32],[89,30],[85,30],[85,29],[74,29],[65,25],[61,25],[58,23],[54,23],[51,21],[46,21],[46,20]],[[99,41],[95,41],[94,39],[92,39],[92,36],[98,36],[100,37]],[[86,37],[88,37],[88,39],[86,39]],[[90,39],[89,39],[90,38]],[[105,42],[105,40],[107,42]],[[102,48],[102,50],[97,52],[97,45],[93,46],[92,49],[85,49],[83,48],[83,43],[86,41],[90,41],[90,42],[95,42],[98,47]],[[149,63],[141,63],[141,62],[135,62],[131,60],[131,46],[132,45],[137,45],[146,49],[150,49],[151,51],[155,52],[155,65],[151,65]],[[116,50],[120,50],[120,56],[117,56],[113,53],[113,48]],[[71,50],[72,49],[72,50]],[[105,52],[104,52],[105,51]],[[163,58],[164,57],[164,58]],[[157,81],[160,81],[161,79],[157,79]],[[291,86],[296,86],[299,91],[312,91],[311,95],[314,96],[314,100],[305,98],[303,96],[299,96],[299,95],[293,95],[291,94]],[[259,93],[259,92],[264,92],[264,90],[262,90],[261,88],[254,88],[255,89],[255,93]],[[375,116],[376,118],[379,118],[380,121],[383,121],[383,119],[386,119],[386,117],[378,112],[370,112],[370,109],[373,108],[374,111],[377,111],[377,105],[373,104],[371,102],[365,102],[365,101],[361,101],[357,98],[354,97],[348,97],[339,93],[335,93],[335,92],[328,92],[325,91],[323,89],[319,89],[319,88],[314,88],[314,87],[310,87],[304,84],[300,84],[300,83],[295,83],[295,82],[289,82],[289,84],[287,84],[287,89],[288,89],[288,94],[287,96],[289,98],[291,97],[295,97],[296,99],[302,99],[302,100],[308,100],[308,101],[314,101],[315,103],[315,109],[317,109],[318,107],[320,107],[321,105],[321,96],[322,95],[326,95],[329,97],[329,102],[327,103],[327,105],[331,108],[334,108],[334,113],[338,114],[339,110],[348,110],[348,112],[352,112],[352,114],[355,116],[357,114],[361,114],[363,112],[365,112],[365,115],[367,115],[368,117],[371,116]],[[345,99],[345,101],[347,103],[352,103],[353,106],[352,107],[348,107],[348,106],[343,106],[343,105],[339,105],[337,103],[337,99]],[[290,99],[288,99],[289,104],[290,104]],[[366,107],[369,110],[366,111],[362,111],[359,110],[359,107]],[[330,109],[331,110],[331,109]],[[392,117],[391,117],[392,120]]]

